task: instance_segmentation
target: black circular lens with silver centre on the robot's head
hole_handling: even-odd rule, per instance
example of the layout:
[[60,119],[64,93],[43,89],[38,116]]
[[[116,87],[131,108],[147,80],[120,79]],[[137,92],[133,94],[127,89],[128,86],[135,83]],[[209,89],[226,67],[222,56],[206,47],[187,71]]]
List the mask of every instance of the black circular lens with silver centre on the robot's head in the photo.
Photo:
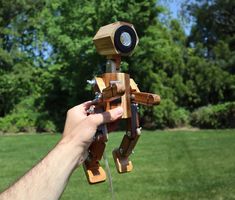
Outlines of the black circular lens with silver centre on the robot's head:
[[114,45],[121,53],[128,54],[136,46],[137,36],[133,28],[124,25],[120,26],[114,34]]

